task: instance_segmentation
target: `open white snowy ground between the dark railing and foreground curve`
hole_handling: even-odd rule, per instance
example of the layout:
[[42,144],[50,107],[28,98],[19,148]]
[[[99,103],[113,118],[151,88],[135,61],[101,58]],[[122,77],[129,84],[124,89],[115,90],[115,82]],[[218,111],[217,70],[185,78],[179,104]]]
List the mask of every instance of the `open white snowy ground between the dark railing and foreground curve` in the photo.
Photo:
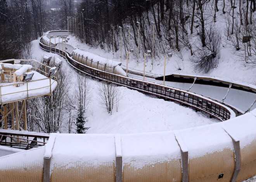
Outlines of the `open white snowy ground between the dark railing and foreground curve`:
[[[74,37],[71,37],[69,44],[77,43]],[[79,44],[82,45],[82,44]],[[85,49],[87,46],[83,46]],[[32,58],[42,61],[46,54],[40,49],[38,41],[32,42]],[[47,53],[63,60],[63,68],[67,74],[77,74],[69,64],[55,54]],[[98,55],[101,55],[98,50]],[[101,55],[102,56],[102,55]],[[118,112],[114,111],[109,115],[106,108],[100,104],[99,88],[102,84],[98,80],[88,77],[90,88],[90,103],[86,111],[86,127],[88,133],[145,133],[151,131],[169,131],[173,129],[191,128],[212,124],[218,120],[209,118],[202,112],[195,112],[193,109],[183,107],[171,101],[157,99],[150,95],[145,95],[126,87],[119,87],[121,100],[119,102]],[[70,91],[74,93],[76,81],[72,80]],[[62,131],[65,132],[65,131]]]

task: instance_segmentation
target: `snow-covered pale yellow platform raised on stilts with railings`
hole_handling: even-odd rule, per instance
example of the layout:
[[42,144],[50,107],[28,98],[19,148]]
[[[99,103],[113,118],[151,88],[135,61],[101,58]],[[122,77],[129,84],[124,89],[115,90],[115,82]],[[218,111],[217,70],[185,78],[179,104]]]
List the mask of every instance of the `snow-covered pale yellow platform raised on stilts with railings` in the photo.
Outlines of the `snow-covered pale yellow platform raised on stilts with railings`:
[[[58,85],[55,68],[36,60],[0,61],[0,129],[27,130],[26,100],[52,95]],[[10,122],[11,121],[11,122]]]

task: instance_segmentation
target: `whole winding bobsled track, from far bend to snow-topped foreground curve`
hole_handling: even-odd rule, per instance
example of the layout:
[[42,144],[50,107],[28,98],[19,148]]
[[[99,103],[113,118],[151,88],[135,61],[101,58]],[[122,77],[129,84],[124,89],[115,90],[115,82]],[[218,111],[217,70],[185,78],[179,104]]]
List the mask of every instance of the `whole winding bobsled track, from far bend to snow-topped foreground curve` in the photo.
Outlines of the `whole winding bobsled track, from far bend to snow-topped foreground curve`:
[[[67,31],[49,34],[66,36]],[[73,59],[71,45],[65,45],[66,51],[61,46],[49,46],[44,36],[39,44],[45,51],[60,54],[86,75],[187,105],[224,122],[137,134],[0,130],[1,145],[21,148],[10,141],[15,136],[24,136],[27,140],[23,148],[37,147],[10,151],[12,154],[0,157],[0,181],[240,182],[256,175],[256,89],[253,86],[191,75],[170,75],[170,82],[164,86],[158,80],[143,81],[138,75],[125,77],[86,66]],[[218,94],[213,93],[216,89]],[[204,90],[206,94],[202,93]]]

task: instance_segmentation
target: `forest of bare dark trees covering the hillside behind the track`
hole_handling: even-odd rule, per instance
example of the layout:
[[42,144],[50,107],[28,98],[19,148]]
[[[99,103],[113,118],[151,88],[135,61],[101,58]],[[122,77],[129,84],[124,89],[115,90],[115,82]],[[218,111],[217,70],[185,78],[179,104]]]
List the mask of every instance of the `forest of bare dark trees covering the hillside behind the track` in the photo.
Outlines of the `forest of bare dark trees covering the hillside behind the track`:
[[[106,51],[129,48],[152,51],[154,56],[188,49],[195,66],[208,72],[218,65],[219,48],[211,49],[209,37],[227,40],[246,63],[255,63],[255,0],[58,0],[49,9],[47,0],[0,0],[0,59],[18,58],[31,40],[54,29],[77,28],[76,35],[91,46]],[[220,15],[225,17],[225,32],[216,31]],[[83,23],[82,23],[83,22]],[[138,32],[138,23],[140,32]],[[69,27],[68,27],[69,26]],[[82,27],[83,26],[83,27]],[[122,35],[120,28],[122,27]],[[73,30],[74,31],[74,30]],[[113,32],[114,31],[114,32]],[[219,35],[209,35],[213,33]],[[225,35],[226,37],[223,37]],[[113,46],[114,36],[114,46]],[[140,37],[138,39],[138,37]],[[197,44],[193,41],[197,39]],[[215,39],[214,39],[215,40]],[[200,43],[200,44],[198,44]],[[217,43],[216,46],[220,46]],[[207,54],[208,63],[200,55]],[[209,56],[211,54],[211,56]],[[214,56],[213,56],[214,55]],[[213,58],[213,59],[212,59]],[[196,59],[196,60],[195,60]],[[200,64],[200,61],[204,63]],[[213,60],[213,61],[211,61]],[[204,65],[206,67],[204,67]]]

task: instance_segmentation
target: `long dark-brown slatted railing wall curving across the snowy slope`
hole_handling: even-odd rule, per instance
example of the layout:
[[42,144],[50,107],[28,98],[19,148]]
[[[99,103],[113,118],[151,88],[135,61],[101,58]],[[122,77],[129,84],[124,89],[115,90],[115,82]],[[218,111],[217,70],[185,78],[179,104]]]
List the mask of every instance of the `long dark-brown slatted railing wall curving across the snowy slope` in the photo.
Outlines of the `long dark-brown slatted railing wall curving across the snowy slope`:
[[[39,40],[39,44],[42,49],[48,52],[50,51],[50,47],[42,43],[42,37]],[[51,52],[55,53],[54,47],[51,47]],[[187,92],[178,88],[167,87],[157,83],[124,77],[121,75],[98,70],[79,63],[78,61],[74,60],[71,55],[69,55],[68,53],[66,54],[65,51],[56,48],[56,53],[59,52],[61,56],[66,58],[66,60],[71,66],[73,66],[73,68],[85,73],[86,75],[90,75],[92,77],[99,78],[100,80],[105,80],[116,85],[138,90],[140,92],[156,95],[164,99],[179,102],[189,107],[193,107],[197,110],[206,112],[210,116],[216,117],[220,121],[225,121],[227,119],[230,119],[231,117],[235,117],[235,113],[233,110],[236,109],[220,104],[202,95],[195,94],[193,92]]]

